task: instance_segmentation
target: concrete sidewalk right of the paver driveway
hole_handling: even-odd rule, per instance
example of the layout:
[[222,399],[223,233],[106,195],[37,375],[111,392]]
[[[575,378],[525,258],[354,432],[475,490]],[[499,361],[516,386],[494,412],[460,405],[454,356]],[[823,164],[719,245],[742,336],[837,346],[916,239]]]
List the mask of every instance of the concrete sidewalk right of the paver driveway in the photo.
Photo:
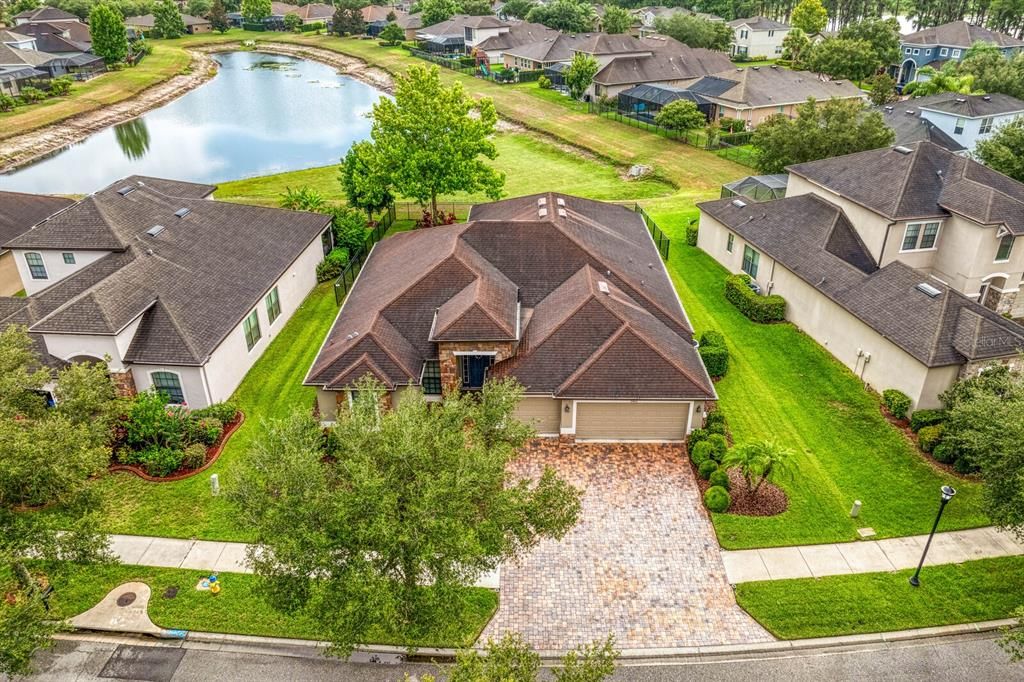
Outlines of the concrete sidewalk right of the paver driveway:
[[[928,536],[833,545],[722,551],[729,583],[873,573],[914,568]],[[1024,554],[1024,543],[994,527],[938,532],[925,565]]]

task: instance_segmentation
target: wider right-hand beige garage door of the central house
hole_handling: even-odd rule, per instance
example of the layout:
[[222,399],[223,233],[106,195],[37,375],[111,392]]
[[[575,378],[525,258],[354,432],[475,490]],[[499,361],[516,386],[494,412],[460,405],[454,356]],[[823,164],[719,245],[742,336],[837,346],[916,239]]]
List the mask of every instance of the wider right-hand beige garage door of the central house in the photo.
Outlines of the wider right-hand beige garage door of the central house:
[[577,438],[682,440],[689,402],[577,402]]

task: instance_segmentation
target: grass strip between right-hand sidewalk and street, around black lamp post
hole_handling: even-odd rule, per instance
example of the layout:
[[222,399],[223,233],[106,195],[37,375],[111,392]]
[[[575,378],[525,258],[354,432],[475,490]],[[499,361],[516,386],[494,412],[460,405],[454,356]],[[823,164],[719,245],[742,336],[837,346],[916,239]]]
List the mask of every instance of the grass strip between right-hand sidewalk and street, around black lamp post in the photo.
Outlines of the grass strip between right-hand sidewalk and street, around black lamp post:
[[912,570],[741,583],[736,600],[782,639],[891,632],[1010,617],[1024,604],[1024,557]]

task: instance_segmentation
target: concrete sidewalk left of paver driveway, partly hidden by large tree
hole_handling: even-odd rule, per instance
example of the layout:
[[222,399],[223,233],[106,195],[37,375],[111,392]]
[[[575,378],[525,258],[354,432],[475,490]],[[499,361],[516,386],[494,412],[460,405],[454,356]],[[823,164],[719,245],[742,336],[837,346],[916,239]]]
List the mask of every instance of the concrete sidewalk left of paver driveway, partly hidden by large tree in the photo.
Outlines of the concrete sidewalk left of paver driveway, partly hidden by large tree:
[[[246,562],[245,543],[210,540],[177,540],[147,536],[109,536],[111,551],[122,563],[162,568],[195,568],[227,573],[251,573]],[[476,582],[476,587],[497,590],[501,569],[496,568]]]

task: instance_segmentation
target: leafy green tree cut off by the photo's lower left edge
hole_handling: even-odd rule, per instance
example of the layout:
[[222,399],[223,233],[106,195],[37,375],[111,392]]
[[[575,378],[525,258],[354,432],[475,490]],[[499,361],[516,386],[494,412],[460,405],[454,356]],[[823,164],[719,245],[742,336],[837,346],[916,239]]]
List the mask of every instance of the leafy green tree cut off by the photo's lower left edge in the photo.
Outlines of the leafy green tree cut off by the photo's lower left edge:
[[[0,332],[0,675],[26,674],[59,629],[30,561],[108,558],[87,483],[110,462],[114,385],[101,365],[73,365],[55,379],[57,403],[47,409],[53,373],[25,328]],[[50,504],[65,508],[60,519],[31,511]]]

